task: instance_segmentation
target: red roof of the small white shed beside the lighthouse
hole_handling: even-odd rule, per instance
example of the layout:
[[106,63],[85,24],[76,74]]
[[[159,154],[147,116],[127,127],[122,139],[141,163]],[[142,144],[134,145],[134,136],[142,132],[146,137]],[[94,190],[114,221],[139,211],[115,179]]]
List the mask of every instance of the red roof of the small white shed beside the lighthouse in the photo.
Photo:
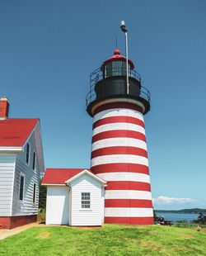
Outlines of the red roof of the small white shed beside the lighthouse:
[[[81,173],[84,169],[68,169],[68,168],[47,168],[42,180],[42,184],[65,184],[65,182]],[[87,171],[91,172],[90,169]]]

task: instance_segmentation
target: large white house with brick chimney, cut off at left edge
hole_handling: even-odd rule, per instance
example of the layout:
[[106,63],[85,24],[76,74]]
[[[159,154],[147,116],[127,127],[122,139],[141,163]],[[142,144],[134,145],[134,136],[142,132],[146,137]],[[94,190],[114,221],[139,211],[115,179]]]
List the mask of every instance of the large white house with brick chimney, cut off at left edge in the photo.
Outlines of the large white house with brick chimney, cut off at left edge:
[[7,118],[9,102],[0,100],[0,229],[36,220],[44,156],[39,119]]

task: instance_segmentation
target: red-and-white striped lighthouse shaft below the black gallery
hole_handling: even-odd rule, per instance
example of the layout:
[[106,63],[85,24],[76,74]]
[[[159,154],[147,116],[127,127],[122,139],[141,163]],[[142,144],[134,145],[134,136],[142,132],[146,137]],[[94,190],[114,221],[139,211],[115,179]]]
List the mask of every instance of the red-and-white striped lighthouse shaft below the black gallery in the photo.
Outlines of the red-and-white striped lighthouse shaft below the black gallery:
[[129,102],[94,110],[91,171],[107,181],[105,223],[153,224],[142,109]]

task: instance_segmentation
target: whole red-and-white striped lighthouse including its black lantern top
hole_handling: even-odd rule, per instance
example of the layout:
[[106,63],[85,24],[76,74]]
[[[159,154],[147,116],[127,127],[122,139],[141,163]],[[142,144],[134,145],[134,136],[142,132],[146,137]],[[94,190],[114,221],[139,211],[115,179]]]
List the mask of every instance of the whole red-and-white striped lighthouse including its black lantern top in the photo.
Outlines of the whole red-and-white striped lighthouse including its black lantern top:
[[[127,63],[128,61],[128,63]],[[150,92],[119,50],[90,76],[91,172],[107,182],[105,223],[152,225],[153,209],[143,116]]]

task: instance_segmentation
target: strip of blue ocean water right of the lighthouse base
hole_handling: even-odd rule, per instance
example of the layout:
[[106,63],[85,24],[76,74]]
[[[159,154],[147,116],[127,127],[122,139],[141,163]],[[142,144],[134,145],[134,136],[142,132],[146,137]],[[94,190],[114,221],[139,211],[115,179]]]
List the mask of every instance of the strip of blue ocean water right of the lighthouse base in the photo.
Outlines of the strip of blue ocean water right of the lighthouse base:
[[191,220],[197,220],[199,214],[198,213],[170,213],[170,212],[157,212],[157,216],[164,216],[166,220],[170,220],[173,222],[178,222],[179,220],[187,220],[190,222]]

